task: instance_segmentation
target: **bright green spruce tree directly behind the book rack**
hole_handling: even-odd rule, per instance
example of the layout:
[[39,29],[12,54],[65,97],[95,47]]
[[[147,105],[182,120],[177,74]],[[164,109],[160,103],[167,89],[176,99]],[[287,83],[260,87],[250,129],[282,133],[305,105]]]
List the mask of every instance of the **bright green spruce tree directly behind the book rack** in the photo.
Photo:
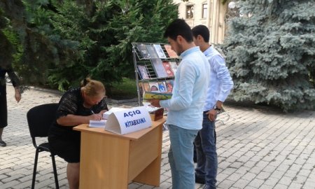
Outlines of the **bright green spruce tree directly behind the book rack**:
[[[67,78],[72,81],[70,85],[85,76],[108,85],[123,76],[133,78],[131,43],[163,41],[165,26],[177,16],[170,0],[97,1],[89,8],[64,1],[55,6],[58,13],[52,16],[54,31],[62,38],[78,41],[80,56],[71,66],[65,62],[55,69],[50,78],[58,82]],[[73,70],[76,73],[69,76]]]

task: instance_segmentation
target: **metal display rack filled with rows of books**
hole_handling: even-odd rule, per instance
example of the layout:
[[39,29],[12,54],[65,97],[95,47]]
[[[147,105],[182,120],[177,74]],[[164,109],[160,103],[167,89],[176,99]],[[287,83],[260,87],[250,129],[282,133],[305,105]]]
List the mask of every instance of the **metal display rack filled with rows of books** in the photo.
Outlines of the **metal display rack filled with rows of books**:
[[141,106],[145,92],[172,94],[177,66],[181,60],[166,43],[132,43],[137,92]]

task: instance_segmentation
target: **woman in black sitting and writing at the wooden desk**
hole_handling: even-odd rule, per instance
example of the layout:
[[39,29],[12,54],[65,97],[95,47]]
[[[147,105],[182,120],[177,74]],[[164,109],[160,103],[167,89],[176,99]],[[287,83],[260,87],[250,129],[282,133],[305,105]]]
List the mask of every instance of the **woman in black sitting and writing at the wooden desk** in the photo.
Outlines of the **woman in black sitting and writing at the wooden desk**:
[[90,120],[102,120],[103,113],[108,111],[105,93],[103,83],[85,78],[80,88],[67,91],[59,101],[48,141],[52,152],[68,162],[66,176],[70,189],[78,188],[80,173],[80,132],[72,129]]

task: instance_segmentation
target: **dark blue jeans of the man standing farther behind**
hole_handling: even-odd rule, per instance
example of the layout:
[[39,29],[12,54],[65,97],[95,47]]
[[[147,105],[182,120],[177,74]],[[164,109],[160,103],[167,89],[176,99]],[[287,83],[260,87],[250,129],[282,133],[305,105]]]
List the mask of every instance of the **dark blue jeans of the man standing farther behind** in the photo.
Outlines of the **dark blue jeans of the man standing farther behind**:
[[216,153],[216,126],[215,122],[209,120],[204,112],[202,130],[195,139],[197,151],[196,177],[205,179],[207,189],[216,188],[216,174],[218,172],[218,155]]

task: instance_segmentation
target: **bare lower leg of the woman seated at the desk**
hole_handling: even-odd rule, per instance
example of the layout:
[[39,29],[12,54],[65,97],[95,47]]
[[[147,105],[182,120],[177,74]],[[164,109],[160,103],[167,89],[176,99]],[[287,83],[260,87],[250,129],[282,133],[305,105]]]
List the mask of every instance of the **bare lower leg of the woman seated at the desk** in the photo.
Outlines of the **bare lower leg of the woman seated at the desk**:
[[66,167],[66,177],[68,178],[69,188],[78,189],[80,179],[80,163],[68,163]]

